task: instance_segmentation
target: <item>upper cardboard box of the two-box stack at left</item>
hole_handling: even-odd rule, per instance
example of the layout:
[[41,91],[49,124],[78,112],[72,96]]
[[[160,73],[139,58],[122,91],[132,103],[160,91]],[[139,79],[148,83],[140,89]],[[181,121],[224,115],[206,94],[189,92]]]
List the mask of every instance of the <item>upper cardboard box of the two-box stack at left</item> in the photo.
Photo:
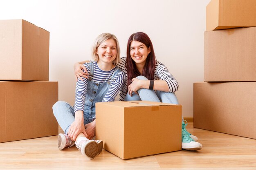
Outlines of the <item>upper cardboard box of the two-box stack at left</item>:
[[49,32],[25,20],[0,20],[0,79],[49,80]]

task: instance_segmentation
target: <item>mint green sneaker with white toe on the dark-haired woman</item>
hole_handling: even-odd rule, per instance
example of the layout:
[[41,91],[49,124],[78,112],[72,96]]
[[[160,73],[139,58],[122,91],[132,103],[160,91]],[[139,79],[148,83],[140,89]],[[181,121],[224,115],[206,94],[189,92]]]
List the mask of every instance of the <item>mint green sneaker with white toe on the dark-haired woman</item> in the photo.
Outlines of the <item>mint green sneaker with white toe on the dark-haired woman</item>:
[[202,145],[199,142],[194,141],[189,132],[186,131],[186,125],[182,122],[182,149],[186,150],[200,150],[202,149]]

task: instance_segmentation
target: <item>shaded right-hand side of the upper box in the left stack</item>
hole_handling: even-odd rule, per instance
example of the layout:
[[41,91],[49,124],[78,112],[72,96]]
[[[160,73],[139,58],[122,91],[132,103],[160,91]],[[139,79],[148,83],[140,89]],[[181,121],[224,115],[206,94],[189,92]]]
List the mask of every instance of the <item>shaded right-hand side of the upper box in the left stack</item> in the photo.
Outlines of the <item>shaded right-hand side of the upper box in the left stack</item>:
[[49,32],[23,20],[22,79],[49,80]]

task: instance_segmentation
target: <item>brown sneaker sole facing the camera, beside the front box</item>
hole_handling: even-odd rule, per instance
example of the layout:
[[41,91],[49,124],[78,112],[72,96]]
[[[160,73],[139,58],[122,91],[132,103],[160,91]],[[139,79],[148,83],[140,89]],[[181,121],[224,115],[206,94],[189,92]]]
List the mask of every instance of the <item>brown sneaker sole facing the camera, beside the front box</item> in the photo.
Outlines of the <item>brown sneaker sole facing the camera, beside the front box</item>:
[[81,148],[81,149],[84,150],[84,152],[82,152],[84,156],[87,156],[90,159],[93,159],[101,153],[102,148],[103,148],[103,141],[91,140],[86,146],[84,146],[84,148]]

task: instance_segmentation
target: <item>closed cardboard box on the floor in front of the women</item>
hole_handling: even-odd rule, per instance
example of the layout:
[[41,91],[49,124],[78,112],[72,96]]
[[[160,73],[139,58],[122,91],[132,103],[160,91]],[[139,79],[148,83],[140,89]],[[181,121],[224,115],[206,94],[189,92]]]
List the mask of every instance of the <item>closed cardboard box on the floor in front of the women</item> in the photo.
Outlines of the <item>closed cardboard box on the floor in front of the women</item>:
[[121,159],[181,150],[182,106],[148,101],[96,103],[96,138]]

